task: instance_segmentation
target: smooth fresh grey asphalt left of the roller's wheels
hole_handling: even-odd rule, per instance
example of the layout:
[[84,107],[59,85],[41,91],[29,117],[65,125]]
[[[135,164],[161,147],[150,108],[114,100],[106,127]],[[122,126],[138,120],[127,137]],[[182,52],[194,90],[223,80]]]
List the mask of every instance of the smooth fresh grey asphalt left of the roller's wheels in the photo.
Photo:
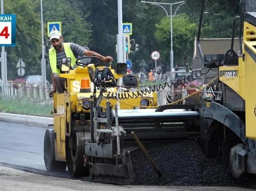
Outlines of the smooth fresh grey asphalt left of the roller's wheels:
[[45,130],[0,121],[0,163],[46,170],[43,154]]

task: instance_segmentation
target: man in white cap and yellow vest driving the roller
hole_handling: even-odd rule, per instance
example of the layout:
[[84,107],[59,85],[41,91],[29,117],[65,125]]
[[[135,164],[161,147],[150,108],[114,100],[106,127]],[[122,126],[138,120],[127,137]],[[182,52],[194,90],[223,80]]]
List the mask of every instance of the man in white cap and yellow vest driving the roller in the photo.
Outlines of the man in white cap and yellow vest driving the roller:
[[58,93],[64,93],[65,88],[65,78],[59,77],[57,74],[62,73],[61,63],[62,58],[71,58],[71,67],[75,69],[77,65],[75,60],[86,56],[97,56],[104,62],[112,62],[113,58],[111,56],[102,56],[96,52],[86,50],[84,47],[75,43],[63,43],[63,37],[58,30],[50,32],[50,41],[53,47],[49,49],[49,62],[48,65],[51,67],[51,81],[53,83],[53,90],[49,92],[49,96],[53,97],[53,93],[56,91]]

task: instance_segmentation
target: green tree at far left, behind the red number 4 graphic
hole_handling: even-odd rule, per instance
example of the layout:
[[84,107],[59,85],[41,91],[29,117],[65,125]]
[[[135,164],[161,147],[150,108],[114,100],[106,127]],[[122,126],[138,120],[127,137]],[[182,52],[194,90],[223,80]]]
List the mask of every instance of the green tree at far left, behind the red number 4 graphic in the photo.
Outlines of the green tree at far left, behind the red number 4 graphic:
[[8,80],[18,78],[16,64],[22,58],[25,76],[41,68],[40,15],[36,12],[39,0],[4,1],[4,13],[16,14],[16,46],[6,47]]

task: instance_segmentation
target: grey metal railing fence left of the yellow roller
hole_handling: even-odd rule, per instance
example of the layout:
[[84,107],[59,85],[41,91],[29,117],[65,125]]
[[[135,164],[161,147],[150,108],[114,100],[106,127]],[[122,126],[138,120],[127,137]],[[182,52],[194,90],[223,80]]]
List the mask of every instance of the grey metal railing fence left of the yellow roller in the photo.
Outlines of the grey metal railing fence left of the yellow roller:
[[26,100],[35,103],[53,103],[53,99],[49,97],[52,85],[46,86],[38,83],[13,84],[8,82],[3,88],[5,91],[2,96],[8,99]]

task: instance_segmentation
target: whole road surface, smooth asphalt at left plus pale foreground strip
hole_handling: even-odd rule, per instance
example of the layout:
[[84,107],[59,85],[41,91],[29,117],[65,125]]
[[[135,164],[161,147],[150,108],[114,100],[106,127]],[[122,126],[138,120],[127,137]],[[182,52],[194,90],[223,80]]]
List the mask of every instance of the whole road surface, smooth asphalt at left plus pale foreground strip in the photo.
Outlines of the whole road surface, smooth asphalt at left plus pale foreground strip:
[[[42,127],[0,121],[0,190],[251,190],[239,187],[117,186],[81,181],[81,179],[73,180],[70,179],[70,175],[68,175],[67,171],[66,173],[62,174],[47,173],[45,172],[46,169],[43,159],[45,130],[46,128]],[[26,169],[24,167],[28,168]],[[17,169],[34,172],[36,174]],[[39,174],[47,176],[42,176]],[[67,179],[67,177],[69,177],[69,179]]]

